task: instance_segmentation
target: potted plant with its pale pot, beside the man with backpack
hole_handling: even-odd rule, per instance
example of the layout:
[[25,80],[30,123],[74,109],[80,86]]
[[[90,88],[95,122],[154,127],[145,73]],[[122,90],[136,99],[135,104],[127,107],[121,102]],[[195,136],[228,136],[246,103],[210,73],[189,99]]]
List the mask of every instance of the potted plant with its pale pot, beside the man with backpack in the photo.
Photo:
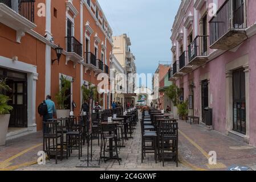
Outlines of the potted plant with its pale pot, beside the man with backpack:
[[71,82],[68,81],[66,77],[61,76],[60,84],[60,90],[55,96],[55,99],[57,101],[56,114],[57,118],[66,118],[70,115],[70,109],[65,102],[67,101],[68,97],[70,97],[70,93],[68,93],[68,90],[70,90],[71,88]]

